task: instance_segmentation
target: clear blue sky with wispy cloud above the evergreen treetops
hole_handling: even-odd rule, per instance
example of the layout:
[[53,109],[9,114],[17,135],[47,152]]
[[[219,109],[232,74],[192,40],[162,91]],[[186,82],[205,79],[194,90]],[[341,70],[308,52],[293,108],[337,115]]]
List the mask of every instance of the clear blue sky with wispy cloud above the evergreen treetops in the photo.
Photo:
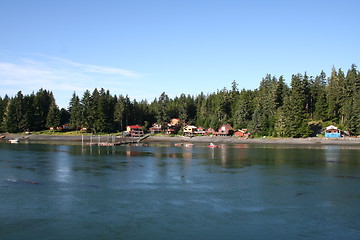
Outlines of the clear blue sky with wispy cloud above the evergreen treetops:
[[152,101],[360,64],[358,0],[2,0],[0,96]]

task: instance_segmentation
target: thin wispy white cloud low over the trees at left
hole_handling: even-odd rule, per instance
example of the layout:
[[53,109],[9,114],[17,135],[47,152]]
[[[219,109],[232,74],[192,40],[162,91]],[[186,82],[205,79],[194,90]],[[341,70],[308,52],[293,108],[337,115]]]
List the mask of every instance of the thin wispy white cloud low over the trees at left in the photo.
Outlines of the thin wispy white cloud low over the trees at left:
[[[49,56],[0,60],[0,96],[17,91],[36,92],[40,88],[54,93],[59,105],[66,106],[72,92],[86,89],[130,90],[130,79],[141,75],[116,67],[92,65]],[[119,93],[117,93],[119,94]]]

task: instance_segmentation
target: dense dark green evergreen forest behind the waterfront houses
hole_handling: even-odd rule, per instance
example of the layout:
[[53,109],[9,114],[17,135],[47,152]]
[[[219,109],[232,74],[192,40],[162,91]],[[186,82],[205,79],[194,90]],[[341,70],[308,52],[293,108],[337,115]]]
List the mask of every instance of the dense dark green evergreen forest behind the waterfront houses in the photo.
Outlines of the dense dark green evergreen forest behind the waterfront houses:
[[229,89],[196,96],[169,98],[164,92],[152,102],[111,95],[109,90],[74,93],[68,109],[59,109],[51,91],[0,97],[0,131],[22,132],[56,128],[68,123],[93,133],[123,131],[127,125],[146,128],[180,118],[188,124],[219,128],[224,123],[246,128],[255,135],[308,137],[335,124],[353,135],[360,134],[360,74],[332,69],[329,77],[294,74],[290,86],[282,76],[266,75],[257,89]]

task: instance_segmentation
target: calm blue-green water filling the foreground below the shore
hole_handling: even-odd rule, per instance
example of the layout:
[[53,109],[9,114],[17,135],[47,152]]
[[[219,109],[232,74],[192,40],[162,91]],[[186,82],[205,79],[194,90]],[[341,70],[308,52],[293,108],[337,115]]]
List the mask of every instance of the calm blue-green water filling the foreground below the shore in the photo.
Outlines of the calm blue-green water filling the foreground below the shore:
[[0,144],[0,239],[360,239],[360,147]]

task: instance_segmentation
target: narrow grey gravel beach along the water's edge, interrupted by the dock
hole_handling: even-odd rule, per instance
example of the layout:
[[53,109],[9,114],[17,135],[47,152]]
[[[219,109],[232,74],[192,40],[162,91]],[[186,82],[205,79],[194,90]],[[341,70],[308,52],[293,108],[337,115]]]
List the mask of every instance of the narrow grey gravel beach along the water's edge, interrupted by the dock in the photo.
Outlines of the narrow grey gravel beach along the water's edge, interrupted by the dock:
[[[58,142],[111,142],[117,141],[119,138],[113,135],[32,135],[32,134],[0,134],[5,136],[2,142],[11,139],[19,139],[21,141],[58,141]],[[359,145],[360,138],[236,138],[236,137],[218,137],[218,136],[196,136],[196,137],[168,137],[168,136],[149,136],[142,142],[169,142],[169,143],[218,143],[218,144],[288,144],[288,145]]]

